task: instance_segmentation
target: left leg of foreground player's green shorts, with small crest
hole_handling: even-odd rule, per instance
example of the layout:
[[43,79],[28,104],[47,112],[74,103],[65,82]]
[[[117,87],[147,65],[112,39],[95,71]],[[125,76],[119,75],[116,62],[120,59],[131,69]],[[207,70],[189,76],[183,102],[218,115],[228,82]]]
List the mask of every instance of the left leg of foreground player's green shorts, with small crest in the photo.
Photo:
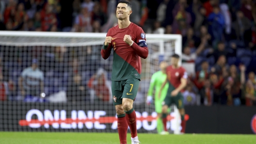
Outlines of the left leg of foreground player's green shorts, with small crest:
[[112,97],[113,104],[119,105],[122,104],[122,95],[123,95],[123,86],[122,81],[112,81]]

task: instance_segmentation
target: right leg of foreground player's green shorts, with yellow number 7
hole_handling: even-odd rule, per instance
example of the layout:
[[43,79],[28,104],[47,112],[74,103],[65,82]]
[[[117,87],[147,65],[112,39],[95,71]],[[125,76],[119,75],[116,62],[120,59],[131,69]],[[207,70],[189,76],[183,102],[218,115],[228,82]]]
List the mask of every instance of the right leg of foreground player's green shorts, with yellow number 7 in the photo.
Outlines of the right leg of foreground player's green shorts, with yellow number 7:
[[140,85],[139,79],[127,79],[124,85],[122,98],[134,100]]

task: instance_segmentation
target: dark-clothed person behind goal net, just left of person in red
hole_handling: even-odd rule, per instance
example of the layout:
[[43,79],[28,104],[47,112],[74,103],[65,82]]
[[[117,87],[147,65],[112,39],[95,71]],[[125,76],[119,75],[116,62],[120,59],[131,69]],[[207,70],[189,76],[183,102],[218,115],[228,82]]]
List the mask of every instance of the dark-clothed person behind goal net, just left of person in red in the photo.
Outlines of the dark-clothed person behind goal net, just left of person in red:
[[67,85],[67,100],[76,101],[86,101],[89,100],[88,89],[81,83],[81,75],[75,74],[72,76],[72,81],[68,82]]

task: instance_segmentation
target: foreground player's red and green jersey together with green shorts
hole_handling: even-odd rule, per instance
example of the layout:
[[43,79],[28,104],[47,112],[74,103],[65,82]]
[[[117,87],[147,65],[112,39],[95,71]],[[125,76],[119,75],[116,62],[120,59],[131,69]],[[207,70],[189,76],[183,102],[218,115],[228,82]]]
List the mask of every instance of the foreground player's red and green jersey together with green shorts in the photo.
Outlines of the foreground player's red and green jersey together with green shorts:
[[[131,46],[124,42],[124,36],[130,35],[134,42]],[[122,104],[123,98],[134,100],[141,78],[141,58],[147,58],[148,49],[143,29],[134,23],[125,29],[118,25],[109,29],[107,36],[112,42],[101,50],[104,59],[113,51],[112,96],[114,105]]]

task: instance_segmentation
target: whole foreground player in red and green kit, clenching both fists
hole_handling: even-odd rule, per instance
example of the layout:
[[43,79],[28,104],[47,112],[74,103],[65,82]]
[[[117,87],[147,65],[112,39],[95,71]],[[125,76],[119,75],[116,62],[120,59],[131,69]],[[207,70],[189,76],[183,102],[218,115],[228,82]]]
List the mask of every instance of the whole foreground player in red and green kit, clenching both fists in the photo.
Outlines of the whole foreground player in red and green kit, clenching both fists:
[[148,49],[142,28],[129,21],[132,13],[128,1],[119,1],[116,8],[118,25],[109,29],[101,56],[109,58],[113,51],[112,96],[117,113],[117,129],[120,144],[127,144],[128,126],[131,144],[139,144],[136,113],[133,101],[141,78],[141,58],[147,58]]

